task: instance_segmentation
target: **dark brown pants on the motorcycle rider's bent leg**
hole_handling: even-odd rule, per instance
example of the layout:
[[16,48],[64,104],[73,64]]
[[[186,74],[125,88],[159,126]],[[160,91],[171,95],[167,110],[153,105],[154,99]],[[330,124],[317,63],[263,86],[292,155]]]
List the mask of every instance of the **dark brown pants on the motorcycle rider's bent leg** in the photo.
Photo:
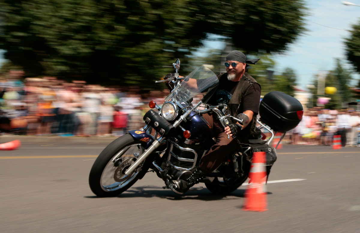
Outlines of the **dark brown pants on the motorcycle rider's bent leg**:
[[214,115],[204,114],[203,117],[212,127],[212,130],[217,137],[217,142],[213,145],[209,152],[207,152],[200,160],[199,169],[207,174],[212,172],[221,165],[227,154],[238,149],[238,143],[236,140],[225,133],[224,127],[221,123],[214,119]]

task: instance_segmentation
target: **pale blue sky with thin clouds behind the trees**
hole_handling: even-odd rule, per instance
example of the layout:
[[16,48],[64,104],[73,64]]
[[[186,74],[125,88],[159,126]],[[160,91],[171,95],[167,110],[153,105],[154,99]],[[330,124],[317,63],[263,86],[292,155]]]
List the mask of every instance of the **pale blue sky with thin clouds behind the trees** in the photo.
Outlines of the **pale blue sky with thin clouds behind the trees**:
[[[360,0],[348,0],[360,5]],[[306,17],[305,35],[298,37],[289,50],[281,55],[274,55],[275,74],[285,68],[292,68],[297,75],[297,85],[306,90],[319,72],[333,70],[335,59],[340,58],[344,68],[351,68],[345,58],[344,38],[350,35],[352,24],[360,21],[360,6],[347,6],[341,0],[305,0],[309,8]],[[219,43],[209,46],[221,47]],[[4,62],[0,50],[0,63]],[[1,66],[1,64],[0,64]],[[353,75],[352,85],[357,84],[359,74]]]

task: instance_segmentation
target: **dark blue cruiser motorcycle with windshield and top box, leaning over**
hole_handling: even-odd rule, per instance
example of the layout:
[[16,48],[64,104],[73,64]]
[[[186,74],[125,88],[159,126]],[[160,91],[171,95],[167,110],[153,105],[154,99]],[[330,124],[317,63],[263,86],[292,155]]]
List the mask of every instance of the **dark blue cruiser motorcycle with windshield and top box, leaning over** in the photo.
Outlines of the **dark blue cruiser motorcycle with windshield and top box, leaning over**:
[[[203,113],[215,114],[225,127],[235,120],[247,124],[248,117],[239,114],[236,118],[225,115],[226,106],[209,106],[207,101],[216,90],[219,80],[206,67],[198,67],[188,76],[179,77],[180,61],[173,63],[174,76],[158,82],[167,82],[171,90],[159,107],[150,101],[145,113],[145,126],[131,130],[115,139],[96,158],[89,175],[91,191],[99,197],[118,196],[130,188],[138,179],[149,172],[156,172],[165,182],[165,188],[172,180],[186,179],[197,168],[201,157],[216,143],[210,125]],[[187,79],[201,79],[193,88]],[[155,109],[155,110],[153,110]],[[276,160],[276,150],[269,144],[275,132],[285,132],[295,127],[302,118],[302,105],[298,100],[284,93],[273,91],[260,104],[258,129],[264,128],[271,136],[264,134],[249,139],[249,144],[229,153],[224,162],[201,182],[215,194],[225,195],[235,191],[248,178],[252,154],[265,151],[267,171]],[[284,134],[285,135],[285,134]]]

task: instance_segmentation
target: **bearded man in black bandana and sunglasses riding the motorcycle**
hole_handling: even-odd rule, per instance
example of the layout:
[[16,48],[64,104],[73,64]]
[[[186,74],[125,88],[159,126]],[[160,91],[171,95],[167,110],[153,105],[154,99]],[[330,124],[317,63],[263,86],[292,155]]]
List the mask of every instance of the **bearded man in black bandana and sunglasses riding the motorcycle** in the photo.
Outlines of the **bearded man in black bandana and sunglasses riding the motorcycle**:
[[[199,167],[187,179],[172,181],[169,187],[172,191],[183,194],[194,184],[198,183],[206,174],[215,170],[226,154],[238,148],[240,143],[247,143],[250,135],[255,135],[256,116],[259,110],[261,87],[246,71],[248,64],[256,64],[259,59],[247,59],[240,51],[231,51],[226,56],[226,73],[217,75],[219,87],[209,100],[209,104],[224,104],[227,114],[237,116],[239,113],[246,114],[251,119],[248,125],[240,125],[239,122],[230,122],[228,126],[221,125],[214,114],[204,114],[203,117],[212,127],[217,138],[215,145],[201,158]],[[197,88],[198,81],[195,79],[185,80],[190,86]],[[232,136],[230,138],[229,136]],[[234,140],[236,138],[237,140]]]

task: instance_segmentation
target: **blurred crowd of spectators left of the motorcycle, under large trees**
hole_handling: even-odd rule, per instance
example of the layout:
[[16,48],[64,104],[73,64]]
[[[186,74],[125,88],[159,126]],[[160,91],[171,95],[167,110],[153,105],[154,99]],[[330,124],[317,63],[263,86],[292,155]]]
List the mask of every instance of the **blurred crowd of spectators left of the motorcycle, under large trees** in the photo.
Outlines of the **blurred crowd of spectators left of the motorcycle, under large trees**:
[[2,132],[120,136],[144,126],[142,116],[149,109],[149,98],[163,101],[166,95],[153,91],[141,97],[136,89],[64,82],[54,77],[20,81],[21,76],[22,71],[11,71],[7,79],[0,77]]

